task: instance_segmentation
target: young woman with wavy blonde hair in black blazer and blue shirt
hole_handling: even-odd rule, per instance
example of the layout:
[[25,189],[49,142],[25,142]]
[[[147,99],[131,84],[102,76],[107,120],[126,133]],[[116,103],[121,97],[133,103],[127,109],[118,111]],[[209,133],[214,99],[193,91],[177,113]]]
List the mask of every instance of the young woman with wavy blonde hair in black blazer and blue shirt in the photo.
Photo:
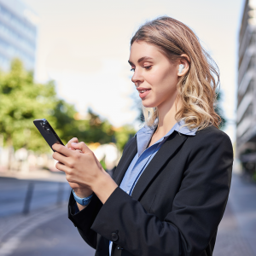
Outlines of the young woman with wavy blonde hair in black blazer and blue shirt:
[[68,218],[96,255],[212,255],[233,163],[214,111],[218,71],[195,33],[169,17],[139,28],[129,63],[145,126],[113,178],[77,138],[53,147],[73,189]]

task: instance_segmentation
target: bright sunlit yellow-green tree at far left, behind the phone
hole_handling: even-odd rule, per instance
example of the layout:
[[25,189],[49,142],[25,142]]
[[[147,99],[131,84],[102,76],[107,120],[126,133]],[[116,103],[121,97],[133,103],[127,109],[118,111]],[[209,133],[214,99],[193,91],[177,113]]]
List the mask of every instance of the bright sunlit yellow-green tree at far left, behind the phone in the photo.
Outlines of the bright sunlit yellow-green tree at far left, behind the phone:
[[0,133],[5,145],[45,149],[32,121],[40,116],[54,121],[55,102],[53,82],[34,84],[33,74],[24,70],[21,61],[13,61],[9,73],[0,73]]

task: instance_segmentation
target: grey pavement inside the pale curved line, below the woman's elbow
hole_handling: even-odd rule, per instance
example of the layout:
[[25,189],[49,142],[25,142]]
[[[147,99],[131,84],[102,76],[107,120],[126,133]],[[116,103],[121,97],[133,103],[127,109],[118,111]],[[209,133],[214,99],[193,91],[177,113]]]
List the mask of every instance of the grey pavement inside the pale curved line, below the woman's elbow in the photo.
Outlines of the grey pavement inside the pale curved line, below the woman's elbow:
[[16,248],[12,256],[93,256],[95,250],[89,247],[73,223],[63,212],[58,218],[32,230]]

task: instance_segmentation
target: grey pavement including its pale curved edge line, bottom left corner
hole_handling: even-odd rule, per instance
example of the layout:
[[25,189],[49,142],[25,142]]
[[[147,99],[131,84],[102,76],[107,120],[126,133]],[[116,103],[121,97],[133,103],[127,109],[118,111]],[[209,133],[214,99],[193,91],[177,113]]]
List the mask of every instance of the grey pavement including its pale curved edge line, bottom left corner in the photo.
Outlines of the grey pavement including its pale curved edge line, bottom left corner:
[[33,214],[11,230],[2,240],[0,256],[93,256],[95,250],[87,245],[67,218],[67,205],[51,207]]

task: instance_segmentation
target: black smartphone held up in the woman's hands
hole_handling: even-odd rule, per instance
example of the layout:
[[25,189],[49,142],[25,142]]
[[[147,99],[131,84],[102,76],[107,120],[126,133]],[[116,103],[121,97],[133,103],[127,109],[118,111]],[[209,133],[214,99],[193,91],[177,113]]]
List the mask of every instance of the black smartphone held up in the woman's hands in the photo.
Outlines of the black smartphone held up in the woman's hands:
[[40,131],[46,143],[49,144],[49,147],[53,151],[55,150],[52,148],[52,145],[55,143],[58,143],[64,146],[64,144],[61,142],[61,139],[57,136],[54,129],[49,125],[49,122],[46,119],[35,119],[33,123],[34,125],[36,125],[36,127],[38,128],[38,131]]

